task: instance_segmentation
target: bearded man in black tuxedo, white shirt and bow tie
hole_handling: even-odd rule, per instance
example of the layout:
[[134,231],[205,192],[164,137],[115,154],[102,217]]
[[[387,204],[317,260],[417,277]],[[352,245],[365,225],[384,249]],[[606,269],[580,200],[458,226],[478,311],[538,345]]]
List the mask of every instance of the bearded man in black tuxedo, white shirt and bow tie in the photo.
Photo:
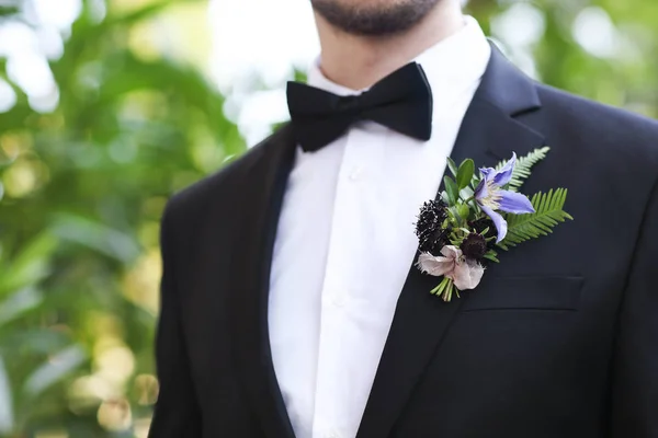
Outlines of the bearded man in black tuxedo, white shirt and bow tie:
[[[292,122],[167,205],[150,437],[658,437],[658,124],[532,81],[457,0],[311,3]],[[446,158],[545,145],[524,192],[575,220],[430,295]]]

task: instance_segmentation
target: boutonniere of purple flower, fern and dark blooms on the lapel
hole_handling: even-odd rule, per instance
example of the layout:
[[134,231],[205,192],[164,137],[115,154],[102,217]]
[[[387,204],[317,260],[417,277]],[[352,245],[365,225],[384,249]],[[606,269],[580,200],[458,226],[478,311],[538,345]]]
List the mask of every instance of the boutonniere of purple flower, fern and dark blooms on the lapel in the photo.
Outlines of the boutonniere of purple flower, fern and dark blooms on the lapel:
[[424,274],[443,277],[431,293],[450,301],[460,291],[475,289],[488,262],[499,263],[499,250],[547,235],[571,216],[563,210],[567,189],[537,193],[532,199],[519,193],[534,164],[549,148],[536,149],[495,169],[475,171],[473,160],[458,166],[449,158],[451,176],[436,200],[424,203],[416,234],[420,255],[417,266]]

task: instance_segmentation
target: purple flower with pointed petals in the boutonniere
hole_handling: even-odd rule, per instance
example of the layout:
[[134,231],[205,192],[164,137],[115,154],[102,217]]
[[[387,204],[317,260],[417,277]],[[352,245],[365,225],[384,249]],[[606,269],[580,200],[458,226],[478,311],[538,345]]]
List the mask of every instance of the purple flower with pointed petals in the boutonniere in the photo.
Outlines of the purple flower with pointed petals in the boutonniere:
[[496,243],[507,235],[507,221],[497,210],[514,215],[535,212],[525,195],[502,188],[512,180],[514,165],[517,165],[517,153],[512,154],[512,159],[499,171],[491,168],[480,169],[483,181],[475,189],[475,200],[483,211],[491,218],[496,230],[498,230]]

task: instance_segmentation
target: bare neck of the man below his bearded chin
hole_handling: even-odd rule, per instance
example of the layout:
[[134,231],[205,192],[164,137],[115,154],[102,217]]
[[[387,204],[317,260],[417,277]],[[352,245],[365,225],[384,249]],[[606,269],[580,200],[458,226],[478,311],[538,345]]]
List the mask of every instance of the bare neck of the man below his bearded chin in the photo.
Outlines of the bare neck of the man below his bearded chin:
[[368,88],[461,30],[463,19],[458,2],[442,1],[404,34],[368,37],[347,34],[316,14],[320,70],[327,79],[349,89]]

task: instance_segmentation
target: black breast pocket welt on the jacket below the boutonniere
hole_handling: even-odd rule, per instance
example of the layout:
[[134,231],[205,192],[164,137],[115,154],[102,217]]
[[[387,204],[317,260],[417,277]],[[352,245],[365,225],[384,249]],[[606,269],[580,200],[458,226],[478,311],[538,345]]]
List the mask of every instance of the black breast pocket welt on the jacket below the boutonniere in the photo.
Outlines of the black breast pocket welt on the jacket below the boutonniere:
[[576,311],[583,277],[499,277],[468,292],[462,312],[485,310]]

